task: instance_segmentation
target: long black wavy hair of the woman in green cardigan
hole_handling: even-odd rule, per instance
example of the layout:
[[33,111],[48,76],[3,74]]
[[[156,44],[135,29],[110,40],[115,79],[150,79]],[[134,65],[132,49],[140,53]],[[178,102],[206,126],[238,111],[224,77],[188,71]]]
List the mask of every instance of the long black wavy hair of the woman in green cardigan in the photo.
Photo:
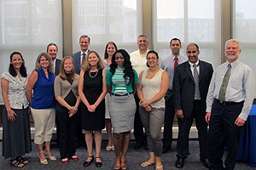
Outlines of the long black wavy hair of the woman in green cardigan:
[[123,65],[125,70],[123,71],[125,73],[125,77],[130,77],[130,79],[134,79],[134,72],[132,70],[131,61],[130,61],[130,55],[125,51],[125,49],[119,49],[117,50],[111,59],[111,65],[110,65],[110,72],[112,72],[112,75],[115,72],[115,69],[117,68],[117,64],[115,63],[115,55],[117,53],[120,53],[124,56],[125,64]]

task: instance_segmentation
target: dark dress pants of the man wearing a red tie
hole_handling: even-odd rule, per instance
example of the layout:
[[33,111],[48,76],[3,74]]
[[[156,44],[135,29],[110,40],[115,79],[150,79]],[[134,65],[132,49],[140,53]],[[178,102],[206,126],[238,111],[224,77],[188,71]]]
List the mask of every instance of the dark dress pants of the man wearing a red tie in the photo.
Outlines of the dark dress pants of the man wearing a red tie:
[[172,146],[172,125],[173,119],[175,115],[174,103],[173,103],[173,95],[171,94],[170,98],[165,98],[165,122],[164,122],[164,136],[163,136],[163,144],[166,146]]

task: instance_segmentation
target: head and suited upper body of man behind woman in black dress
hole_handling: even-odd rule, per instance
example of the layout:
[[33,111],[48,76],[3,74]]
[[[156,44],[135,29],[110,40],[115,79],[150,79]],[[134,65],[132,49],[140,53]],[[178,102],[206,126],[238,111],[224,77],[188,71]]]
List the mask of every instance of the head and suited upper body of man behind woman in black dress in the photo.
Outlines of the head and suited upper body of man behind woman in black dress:
[[79,38],[79,45],[81,48],[81,51],[72,54],[74,64],[75,64],[75,70],[76,73],[79,74],[81,70],[81,65],[83,65],[83,57],[87,55],[90,52],[89,46],[90,46],[90,37],[83,35]]

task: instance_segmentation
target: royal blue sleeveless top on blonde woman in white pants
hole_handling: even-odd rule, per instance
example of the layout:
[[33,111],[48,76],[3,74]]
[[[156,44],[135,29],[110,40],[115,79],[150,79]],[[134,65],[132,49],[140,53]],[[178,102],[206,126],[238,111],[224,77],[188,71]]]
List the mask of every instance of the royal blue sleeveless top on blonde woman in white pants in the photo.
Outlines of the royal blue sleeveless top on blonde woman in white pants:
[[33,98],[31,107],[33,109],[49,109],[55,107],[54,82],[55,75],[48,72],[48,78],[44,70],[35,70],[38,72],[38,80],[33,88]]

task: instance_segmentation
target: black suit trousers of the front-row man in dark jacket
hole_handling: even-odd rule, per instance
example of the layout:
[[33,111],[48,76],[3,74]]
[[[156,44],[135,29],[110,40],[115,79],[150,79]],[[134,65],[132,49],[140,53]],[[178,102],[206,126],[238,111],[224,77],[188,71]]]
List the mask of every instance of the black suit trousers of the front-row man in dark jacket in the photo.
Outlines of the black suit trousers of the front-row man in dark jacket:
[[194,100],[193,112],[190,117],[184,114],[183,119],[178,118],[177,136],[177,157],[186,158],[189,150],[189,132],[195,118],[195,125],[198,131],[200,157],[208,157],[207,148],[207,122],[205,120],[206,111],[201,107],[201,100]]

